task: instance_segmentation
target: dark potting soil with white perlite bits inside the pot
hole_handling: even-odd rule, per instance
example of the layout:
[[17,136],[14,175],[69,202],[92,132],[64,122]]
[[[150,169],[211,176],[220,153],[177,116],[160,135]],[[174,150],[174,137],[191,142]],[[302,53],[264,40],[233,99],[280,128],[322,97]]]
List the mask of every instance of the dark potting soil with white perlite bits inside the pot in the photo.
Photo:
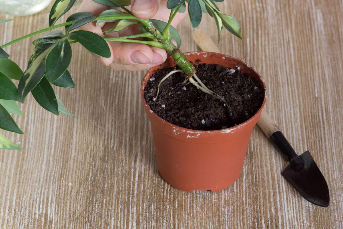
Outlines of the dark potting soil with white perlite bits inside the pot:
[[151,76],[144,90],[144,98],[151,110],[174,125],[194,130],[218,130],[247,121],[261,107],[264,100],[258,79],[247,73],[221,65],[199,64],[197,76],[225,101],[201,92],[193,84],[182,84],[185,74],[176,72],[164,80],[155,98],[159,81],[170,71],[164,68]]

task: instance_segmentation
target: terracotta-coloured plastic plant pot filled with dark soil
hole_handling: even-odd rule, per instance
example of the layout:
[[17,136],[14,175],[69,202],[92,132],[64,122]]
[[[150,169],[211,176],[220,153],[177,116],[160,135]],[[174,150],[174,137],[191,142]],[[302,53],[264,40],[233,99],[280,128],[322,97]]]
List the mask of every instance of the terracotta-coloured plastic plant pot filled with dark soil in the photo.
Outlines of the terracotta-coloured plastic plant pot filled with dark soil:
[[174,60],[168,58],[162,67],[155,66],[144,76],[141,96],[145,113],[151,122],[159,173],[170,185],[186,192],[217,192],[233,184],[240,175],[252,128],[265,104],[266,88],[259,73],[239,59],[210,52],[185,55],[193,63],[200,59],[201,63],[218,64],[236,70],[239,67],[240,71],[258,78],[264,87],[264,101],[260,110],[246,122],[222,130],[199,131],[168,123],[158,117],[144,100],[144,88],[152,73],[157,69],[174,67]]

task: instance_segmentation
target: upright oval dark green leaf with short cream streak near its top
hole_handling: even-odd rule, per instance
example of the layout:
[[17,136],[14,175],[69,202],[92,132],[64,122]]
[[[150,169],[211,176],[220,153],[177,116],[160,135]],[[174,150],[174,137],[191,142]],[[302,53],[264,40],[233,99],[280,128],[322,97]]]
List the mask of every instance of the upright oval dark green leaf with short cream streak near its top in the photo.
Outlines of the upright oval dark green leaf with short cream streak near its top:
[[50,82],[57,80],[67,70],[71,53],[68,39],[63,39],[51,49],[45,64],[46,77]]

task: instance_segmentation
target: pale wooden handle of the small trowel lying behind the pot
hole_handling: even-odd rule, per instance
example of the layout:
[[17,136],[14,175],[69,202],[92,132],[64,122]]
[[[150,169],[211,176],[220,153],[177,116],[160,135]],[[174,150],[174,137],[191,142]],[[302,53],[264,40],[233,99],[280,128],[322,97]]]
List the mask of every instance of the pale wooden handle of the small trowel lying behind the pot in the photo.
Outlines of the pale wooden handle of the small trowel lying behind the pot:
[[[210,51],[214,53],[221,53],[218,46],[212,41],[211,37],[203,30],[196,30],[193,33],[193,39],[203,51]],[[257,125],[263,130],[264,134],[270,138],[270,136],[278,131],[274,120],[270,117],[267,111],[262,110],[260,120]]]

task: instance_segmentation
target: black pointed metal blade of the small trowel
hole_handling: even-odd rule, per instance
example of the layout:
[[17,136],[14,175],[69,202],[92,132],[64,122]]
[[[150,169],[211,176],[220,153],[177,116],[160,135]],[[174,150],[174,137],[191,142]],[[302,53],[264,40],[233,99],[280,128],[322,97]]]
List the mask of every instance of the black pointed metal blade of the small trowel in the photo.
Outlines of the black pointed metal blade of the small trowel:
[[320,172],[309,151],[299,155],[304,166],[295,170],[291,163],[281,173],[295,189],[309,202],[322,207],[328,207],[330,194],[328,184]]

